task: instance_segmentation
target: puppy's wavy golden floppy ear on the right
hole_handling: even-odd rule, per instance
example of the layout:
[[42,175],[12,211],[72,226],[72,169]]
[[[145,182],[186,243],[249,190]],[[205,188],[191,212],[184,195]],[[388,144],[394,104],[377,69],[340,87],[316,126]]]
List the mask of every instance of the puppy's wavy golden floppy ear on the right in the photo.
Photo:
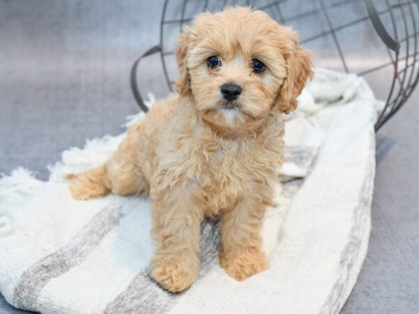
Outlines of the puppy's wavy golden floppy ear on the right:
[[308,77],[313,77],[311,55],[298,43],[297,33],[289,30],[291,47],[286,59],[286,77],[279,91],[279,109],[289,114],[297,107],[297,96],[300,95]]

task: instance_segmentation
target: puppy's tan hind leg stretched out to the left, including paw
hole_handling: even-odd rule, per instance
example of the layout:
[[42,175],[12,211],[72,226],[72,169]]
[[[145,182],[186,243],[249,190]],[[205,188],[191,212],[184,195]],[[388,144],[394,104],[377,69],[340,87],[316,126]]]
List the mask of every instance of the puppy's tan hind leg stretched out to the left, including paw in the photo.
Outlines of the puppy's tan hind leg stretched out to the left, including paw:
[[70,190],[76,200],[103,197],[110,192],[129,195],[148,191],[149,184],[135,154],[140,127],[140,124],[131,127],[118,150],[105,165],[67,176],[71,179]]

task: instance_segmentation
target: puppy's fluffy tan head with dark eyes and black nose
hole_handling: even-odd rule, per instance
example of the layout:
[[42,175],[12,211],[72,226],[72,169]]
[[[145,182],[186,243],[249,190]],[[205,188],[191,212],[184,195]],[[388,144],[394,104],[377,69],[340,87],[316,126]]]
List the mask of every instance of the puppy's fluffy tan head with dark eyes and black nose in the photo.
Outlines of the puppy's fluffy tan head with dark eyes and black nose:
[[295,110],[313,74],[295,31],[249,8],[199,15],[176,56],[180,96],[205,123],[230,130],[260,126],[271,110]]

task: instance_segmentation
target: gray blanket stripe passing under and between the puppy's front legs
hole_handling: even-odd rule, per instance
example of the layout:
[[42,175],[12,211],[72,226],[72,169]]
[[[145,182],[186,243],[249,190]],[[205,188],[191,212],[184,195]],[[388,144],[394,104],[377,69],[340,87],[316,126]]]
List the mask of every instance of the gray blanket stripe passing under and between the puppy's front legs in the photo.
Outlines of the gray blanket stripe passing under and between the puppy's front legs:
[[[219,241],[219,229],[216,223],[203,223],[200,237],[200,273],[198,281],[216,264]],[[133,278],[126,290],[108,304],[104,313],[163,313],[168,311],[182,294],[172,294],[161,289],[152,279],[150,271],[147,269],[140,271]]]

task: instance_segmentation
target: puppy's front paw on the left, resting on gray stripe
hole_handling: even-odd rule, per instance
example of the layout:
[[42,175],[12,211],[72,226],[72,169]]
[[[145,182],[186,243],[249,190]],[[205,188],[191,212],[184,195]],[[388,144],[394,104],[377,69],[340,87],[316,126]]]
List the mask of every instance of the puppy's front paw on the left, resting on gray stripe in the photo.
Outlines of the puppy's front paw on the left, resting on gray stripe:
[[196,257],[182,261],[176,255],[154,257],[152,261],[152,276],[170,292],[182,292],[190,287],[198,276],[198,262]]

